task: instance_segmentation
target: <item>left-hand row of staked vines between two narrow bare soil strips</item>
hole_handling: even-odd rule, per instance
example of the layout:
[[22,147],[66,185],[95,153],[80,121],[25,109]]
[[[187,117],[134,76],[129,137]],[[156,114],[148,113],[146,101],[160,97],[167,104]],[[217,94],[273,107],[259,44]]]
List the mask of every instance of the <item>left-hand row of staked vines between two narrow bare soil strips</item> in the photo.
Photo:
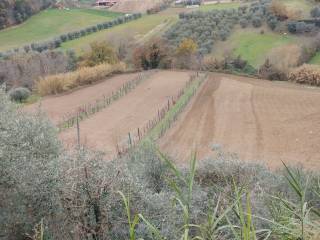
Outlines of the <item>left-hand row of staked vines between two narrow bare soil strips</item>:
[[117,91],[112,92],[110,96],[102,96],[100,98],[97,98],[95,101],[92,101],[94,103],[88,103],[78,107],[76,113],[66,114],[64,119],[57,125],[59,132],[71,128],[79,124],[80,121],[83,121],[90,116],[100,112],[101,110],[107,108],[113,102],[130,93],[140,83],[150,78],[155,73],[155,71],[141,72],[136,78],[124,83]]

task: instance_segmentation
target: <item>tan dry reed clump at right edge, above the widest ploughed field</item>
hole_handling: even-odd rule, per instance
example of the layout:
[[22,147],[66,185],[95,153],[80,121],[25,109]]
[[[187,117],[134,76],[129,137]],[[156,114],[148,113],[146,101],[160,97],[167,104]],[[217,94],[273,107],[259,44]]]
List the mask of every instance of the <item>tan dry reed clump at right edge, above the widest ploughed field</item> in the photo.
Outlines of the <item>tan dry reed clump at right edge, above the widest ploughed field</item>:
[[289,81],[320,86],[320,67],[304,64],[295,68],[289,74]]

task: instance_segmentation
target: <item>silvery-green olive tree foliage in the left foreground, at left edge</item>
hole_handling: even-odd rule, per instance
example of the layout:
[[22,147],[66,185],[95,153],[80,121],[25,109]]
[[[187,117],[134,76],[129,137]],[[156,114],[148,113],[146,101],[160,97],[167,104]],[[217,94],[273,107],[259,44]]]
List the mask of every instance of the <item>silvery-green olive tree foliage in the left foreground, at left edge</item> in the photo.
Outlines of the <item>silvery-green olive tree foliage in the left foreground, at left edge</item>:
[[57,206],[60,143],[42,116],[22,113],[0,90],[0,232],[20,239]]

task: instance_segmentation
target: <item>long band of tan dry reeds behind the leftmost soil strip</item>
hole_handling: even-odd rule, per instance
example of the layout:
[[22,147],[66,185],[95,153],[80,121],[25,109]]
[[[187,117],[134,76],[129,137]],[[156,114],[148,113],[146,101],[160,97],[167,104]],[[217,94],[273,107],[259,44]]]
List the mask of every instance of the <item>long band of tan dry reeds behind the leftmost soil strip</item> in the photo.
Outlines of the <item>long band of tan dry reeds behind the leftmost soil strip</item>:
[[92,84],[114,73],[124,72],[124,63],[114,65],[101,64],[95,67],[83,67],[74,72],[62,73],[40,78],[36,82],[39,95],[53,95],[66,92],[78,86]]

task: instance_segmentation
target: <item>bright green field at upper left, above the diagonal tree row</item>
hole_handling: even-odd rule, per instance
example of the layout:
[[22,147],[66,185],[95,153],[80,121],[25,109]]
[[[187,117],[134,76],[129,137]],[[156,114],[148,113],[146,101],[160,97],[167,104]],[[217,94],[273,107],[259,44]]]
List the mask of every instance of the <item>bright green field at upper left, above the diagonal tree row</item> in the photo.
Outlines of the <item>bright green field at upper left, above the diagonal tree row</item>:
[[111,20],[119,15],[94,9],[45,10],[21,25],[0,31],[0,51],[48,40],[62,33]]

